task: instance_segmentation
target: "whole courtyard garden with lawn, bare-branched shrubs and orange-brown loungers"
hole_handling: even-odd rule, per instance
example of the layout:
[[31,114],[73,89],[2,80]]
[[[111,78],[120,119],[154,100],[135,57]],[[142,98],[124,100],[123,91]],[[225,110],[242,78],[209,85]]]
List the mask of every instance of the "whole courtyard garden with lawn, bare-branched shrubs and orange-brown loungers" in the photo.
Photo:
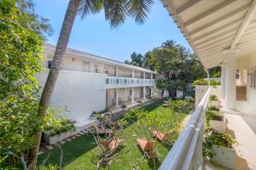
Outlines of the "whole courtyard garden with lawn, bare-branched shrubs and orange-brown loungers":
[[[128,111],[112,127],[109,120],[104,123],[103,116],[99,116],[102,123],[96,126],[103,134],[95,130],[56,146],[38,157],[38,165],[44,163],[45,167],[64,169],[157,169],[171,150],[193,105],[192,100],[156,100],[137,111]],[[153,144],[143,148],[140,139]],[[112,141],[116,141],[114,145]]]

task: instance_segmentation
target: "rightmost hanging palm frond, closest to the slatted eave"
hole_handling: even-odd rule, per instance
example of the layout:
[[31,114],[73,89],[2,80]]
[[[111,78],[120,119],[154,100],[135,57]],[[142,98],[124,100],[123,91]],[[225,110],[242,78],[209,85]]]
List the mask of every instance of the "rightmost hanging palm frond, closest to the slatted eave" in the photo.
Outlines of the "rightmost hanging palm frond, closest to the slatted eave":
[[143,24],[153,3],[154,0],[128,0],[127,12],[138,24]]

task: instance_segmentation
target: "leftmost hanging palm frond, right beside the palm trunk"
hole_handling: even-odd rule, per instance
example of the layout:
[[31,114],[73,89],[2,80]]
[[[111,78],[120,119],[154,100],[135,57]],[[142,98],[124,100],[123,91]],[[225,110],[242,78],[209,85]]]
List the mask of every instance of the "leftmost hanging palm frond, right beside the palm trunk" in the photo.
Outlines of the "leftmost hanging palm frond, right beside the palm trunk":
[[89,14],[96,14],[102,9],[102,0],[80,0],[78,14],[84,19]]

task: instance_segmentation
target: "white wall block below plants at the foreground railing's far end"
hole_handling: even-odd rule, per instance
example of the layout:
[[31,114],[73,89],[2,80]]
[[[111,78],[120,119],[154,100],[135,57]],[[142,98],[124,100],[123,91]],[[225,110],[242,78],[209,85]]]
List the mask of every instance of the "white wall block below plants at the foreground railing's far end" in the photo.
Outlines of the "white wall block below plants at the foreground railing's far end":
[[[195,106],[197,106],[204,95],[207,93],[208,86],[196,85],[195,86]],[[218,98],[221,97],[221,86],[212,87],[211,94],[217,95]]]

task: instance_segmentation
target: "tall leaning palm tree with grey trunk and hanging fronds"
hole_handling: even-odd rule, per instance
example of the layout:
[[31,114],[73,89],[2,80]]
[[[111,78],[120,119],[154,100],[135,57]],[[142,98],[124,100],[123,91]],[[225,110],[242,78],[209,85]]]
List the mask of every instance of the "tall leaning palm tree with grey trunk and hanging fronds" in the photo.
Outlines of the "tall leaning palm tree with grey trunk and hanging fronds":
[[[130,16],[138,24],[143,24],[154,0],[70,0],[67,6],[65,18],[61,26],[61,33],[56,44],[53,62],[49,75],[44,85],[43,93],[38,107],[38,117],[44,120],[49,100],[55,88],[55,82],[60,72],[61,62],[66,53],[67,43],[72,31],[73,22],[77,14],[83,19],[88,14],[96,14],[102,9],[105,12],[105,19],[109,20],[111,27],[119,26]],[[38,159],[38,149],[42,131],[35,132],[35,144],[29,153],[28,162],[30,169],[35,169]]]

